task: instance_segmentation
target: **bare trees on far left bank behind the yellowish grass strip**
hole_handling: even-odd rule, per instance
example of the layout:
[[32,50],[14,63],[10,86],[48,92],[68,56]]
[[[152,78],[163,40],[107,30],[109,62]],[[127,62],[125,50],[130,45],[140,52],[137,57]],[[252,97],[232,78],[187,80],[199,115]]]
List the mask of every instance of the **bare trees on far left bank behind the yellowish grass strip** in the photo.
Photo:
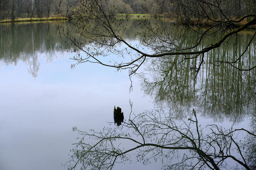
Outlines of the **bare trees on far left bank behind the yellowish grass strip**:
[[0,0],[0,20],[72,15],[76,0]]

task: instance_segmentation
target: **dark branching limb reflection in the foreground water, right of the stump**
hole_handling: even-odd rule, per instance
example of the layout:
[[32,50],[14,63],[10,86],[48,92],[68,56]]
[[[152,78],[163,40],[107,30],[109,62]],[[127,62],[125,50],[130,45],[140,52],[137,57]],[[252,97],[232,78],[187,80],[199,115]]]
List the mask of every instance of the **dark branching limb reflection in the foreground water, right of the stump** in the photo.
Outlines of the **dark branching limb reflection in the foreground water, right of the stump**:
[[116,163],[136,159],[143,164],[161,160],[164,169],[255,168],[255,158],[250,157],[255,151],[250,148],[256,144],[252,140],[256,137],[255,115],[251,131],[233,125],[230,129],[201,126],[194,109],[188,117],[185,120],[170,109],[159,109],[131,114],[123,125],[110,123],[99,132],[73,128],[78,143],[65,165],[68,169],[78,164],[82,169],[111,169]]

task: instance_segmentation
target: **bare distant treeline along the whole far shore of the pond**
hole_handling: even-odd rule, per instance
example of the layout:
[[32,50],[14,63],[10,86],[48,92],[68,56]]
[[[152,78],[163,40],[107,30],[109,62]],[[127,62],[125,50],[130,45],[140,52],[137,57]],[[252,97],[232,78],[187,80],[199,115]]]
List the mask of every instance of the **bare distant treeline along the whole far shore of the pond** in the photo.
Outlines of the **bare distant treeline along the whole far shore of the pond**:
[[[0,0],[0,20],[31,17],[64,16],[70,18],[79,11],[76,6],[82,0]],[[102,1],[106,13],[137,13],[166,14],[176,18],[193,19],[193,12],[204,13],[197,0],[99,0]],[[202,1],[202,0],[201,0]],[[90,2],[87,0],[87,2]],[[211,4],[211,0],[203,0]],[[217,0],[216,11],[212,15],[232,16],[238,18],[250,13],[256,13],[256,0]],[[219,12],[219,9],[223,13]],[[215,16],[216,17],[216,16]],[[198,18],[195,18],[198,19]],[[201,18],[202,19],[202,18]]]

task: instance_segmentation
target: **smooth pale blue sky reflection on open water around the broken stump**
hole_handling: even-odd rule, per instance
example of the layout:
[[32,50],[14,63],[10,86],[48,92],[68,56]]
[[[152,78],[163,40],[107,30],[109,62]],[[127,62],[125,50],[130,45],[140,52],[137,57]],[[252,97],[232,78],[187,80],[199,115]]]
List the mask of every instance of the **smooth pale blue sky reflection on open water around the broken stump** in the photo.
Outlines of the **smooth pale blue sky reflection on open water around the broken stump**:
[[[135,76],[133,91],[129,93],[127,70],[116,72],[93,63],[70,69],[74,61],[69,57],[73,58],[73,54],[59,50],[36,54],[29,60],[0,65],[0,169],[64,169],[61,163],[69,159],[71,144],[76,142],[73,126],[84,131],[101,130],[107,122],[113,122],[114,106],[122,108],[126,119],[130,113],[129,99],[134,113],[154,107]],[[204,124],[216,123],[212,119],[198,119]],[[246,127],[247,122],[236,126]],[[218,124],[229,127],[231,122]],[[119,164],[115,169],[131,167],[144,166]],[[158,162],[146,168],[160,167]]]

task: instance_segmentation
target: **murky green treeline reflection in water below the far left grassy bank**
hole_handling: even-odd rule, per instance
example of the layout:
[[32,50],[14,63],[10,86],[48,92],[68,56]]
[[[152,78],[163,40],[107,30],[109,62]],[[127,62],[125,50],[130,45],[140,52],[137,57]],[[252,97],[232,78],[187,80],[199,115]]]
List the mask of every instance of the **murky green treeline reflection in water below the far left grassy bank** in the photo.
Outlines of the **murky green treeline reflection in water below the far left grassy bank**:
[[63,37],[57,26],[68,23],[9,23],[0,25],[0,61],[3,65],[17,65],[19,61],[28,65],[28,72],[34,78],[40,69],[40,55],[52,61],[55,51],[64,48]]

